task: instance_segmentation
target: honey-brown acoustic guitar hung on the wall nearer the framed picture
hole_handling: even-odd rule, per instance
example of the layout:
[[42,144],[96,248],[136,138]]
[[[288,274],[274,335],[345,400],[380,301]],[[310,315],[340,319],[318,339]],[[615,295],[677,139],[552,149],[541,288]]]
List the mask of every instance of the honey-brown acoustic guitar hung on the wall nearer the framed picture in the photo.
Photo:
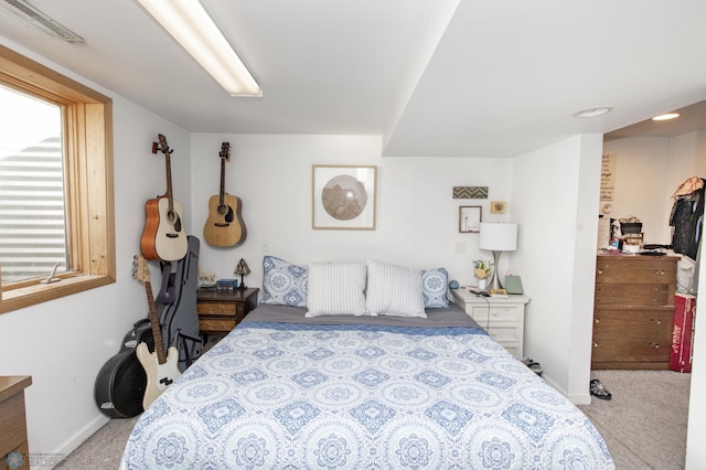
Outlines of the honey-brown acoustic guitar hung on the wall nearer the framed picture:
[[208,245],[237,246],[245,242],[247,229],[240,216],[240,199],[225,192],[225,162],[231,159],[231,143],[221,145],[221,193],[208,200],[208,218],[203,237]]

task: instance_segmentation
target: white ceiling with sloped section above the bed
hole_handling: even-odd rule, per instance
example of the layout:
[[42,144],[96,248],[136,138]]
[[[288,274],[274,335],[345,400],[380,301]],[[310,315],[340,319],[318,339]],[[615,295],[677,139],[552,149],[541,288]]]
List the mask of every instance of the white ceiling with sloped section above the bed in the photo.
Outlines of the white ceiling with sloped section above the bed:
[[[135,0],[30,1],[85,43],[2,8],[0,43],[194,132],[378,135],[384,156],[507,158],[706,98],[703,0],[201,0],[261,98],[229,97]],[[573,116],[597,106],[613,109]]]

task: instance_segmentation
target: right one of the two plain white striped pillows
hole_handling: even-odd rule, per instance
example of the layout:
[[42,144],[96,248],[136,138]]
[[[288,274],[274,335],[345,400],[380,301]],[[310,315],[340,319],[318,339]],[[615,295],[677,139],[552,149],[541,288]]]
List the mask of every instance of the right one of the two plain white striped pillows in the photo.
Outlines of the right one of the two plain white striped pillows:
[[365,306],[373,316],[427,318],[421,270],[368,260]]

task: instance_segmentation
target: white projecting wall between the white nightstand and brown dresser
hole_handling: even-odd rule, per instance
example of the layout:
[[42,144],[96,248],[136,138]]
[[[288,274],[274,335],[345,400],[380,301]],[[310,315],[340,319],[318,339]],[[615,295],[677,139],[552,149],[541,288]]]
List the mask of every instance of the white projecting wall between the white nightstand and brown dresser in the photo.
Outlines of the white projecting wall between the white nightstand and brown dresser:
[[[515,158],[513,267],[532,298],[525,355],[574,403],[590,403],[590,340],[601,136],[576,136]],[[576,281],[575,281],[576,276]]]

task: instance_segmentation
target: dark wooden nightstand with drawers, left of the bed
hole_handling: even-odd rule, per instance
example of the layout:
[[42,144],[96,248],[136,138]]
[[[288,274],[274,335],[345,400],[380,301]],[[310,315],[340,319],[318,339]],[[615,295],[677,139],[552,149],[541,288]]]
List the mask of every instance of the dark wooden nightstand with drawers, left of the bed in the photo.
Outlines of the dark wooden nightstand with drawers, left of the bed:
[[213,333],[228,333],[245,316],[257,307],[259,289],[199,289],[196,311],[199,329],[204,337]]

